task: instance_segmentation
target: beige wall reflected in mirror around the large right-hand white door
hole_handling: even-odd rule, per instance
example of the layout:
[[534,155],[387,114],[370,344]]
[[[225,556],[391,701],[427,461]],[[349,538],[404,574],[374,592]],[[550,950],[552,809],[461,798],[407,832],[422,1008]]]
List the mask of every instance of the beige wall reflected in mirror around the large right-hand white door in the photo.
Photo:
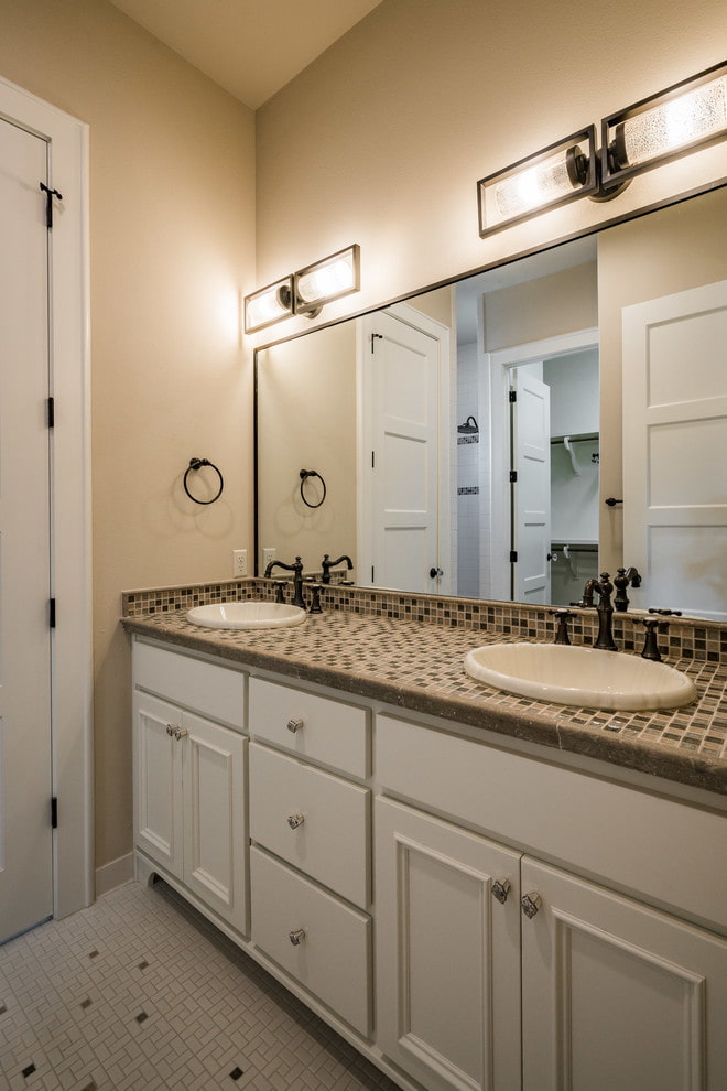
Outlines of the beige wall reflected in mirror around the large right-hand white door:
[[[663,208],[598,238],[600,324],[601,495],[621,492],[621,310],[631,303],[684,292],[727,277],[727,190]],[[686,364],[688,366],[688,361]],[[628,472],[628,469],[627,469]],[[612,572],[623,557],[620,508],[604,508],[601,565]]]

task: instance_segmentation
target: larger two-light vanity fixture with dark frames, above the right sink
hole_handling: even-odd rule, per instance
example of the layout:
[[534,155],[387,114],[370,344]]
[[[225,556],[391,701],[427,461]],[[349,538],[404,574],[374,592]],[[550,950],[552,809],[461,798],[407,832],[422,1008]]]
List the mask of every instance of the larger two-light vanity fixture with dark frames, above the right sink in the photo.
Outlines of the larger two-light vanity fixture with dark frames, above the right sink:
[[727,137],[727,62],[603,118],[477,183],[480,238],[579,197],[610,201],[636,174]]

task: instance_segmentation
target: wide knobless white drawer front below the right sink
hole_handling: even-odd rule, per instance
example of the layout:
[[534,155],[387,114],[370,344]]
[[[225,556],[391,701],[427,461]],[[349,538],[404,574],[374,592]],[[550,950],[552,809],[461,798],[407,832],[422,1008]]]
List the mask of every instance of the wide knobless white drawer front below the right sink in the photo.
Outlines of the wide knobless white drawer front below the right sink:
[[391,791],[724,930],[724,814],[394,716],[376,754]]

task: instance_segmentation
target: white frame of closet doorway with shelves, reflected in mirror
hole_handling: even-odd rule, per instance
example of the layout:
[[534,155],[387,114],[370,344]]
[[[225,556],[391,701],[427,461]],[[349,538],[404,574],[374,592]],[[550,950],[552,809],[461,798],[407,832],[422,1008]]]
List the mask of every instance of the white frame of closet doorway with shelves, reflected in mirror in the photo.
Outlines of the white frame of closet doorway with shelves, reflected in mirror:
[[491,435],[491,518],[490,518],[490,592],[489,597],[510,602],[510,565],[504,558],[510,553],[510,369],[522,364],[547,360],[553,356],[566,356],[584,348],[599,345],[598,326],[556,334],[541,341],[531,341],[510,348],[486,353],[489,361],[486,371],[490,377],[490,435]]

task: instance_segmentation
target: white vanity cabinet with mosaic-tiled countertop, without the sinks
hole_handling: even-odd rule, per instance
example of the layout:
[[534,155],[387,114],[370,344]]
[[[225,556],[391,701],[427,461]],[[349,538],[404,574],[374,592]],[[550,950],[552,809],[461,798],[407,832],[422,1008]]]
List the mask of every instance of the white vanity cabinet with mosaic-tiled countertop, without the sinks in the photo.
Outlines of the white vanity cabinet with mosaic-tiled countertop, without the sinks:
[[123,624],[139,878],[402,1088],[726,1085],[724,667],[597,713],[467,678],[471,625]]

